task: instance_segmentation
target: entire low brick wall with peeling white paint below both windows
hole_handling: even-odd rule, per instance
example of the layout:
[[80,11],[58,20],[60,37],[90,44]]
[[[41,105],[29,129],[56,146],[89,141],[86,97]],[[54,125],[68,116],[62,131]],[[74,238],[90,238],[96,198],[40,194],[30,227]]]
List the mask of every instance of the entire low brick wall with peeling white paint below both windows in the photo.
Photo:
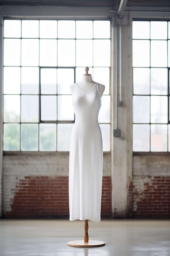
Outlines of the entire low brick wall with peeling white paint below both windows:
[[[2,217],[69,218],[68,163],[68,153],[6,153]],[[169,166],[169,154],[133,157],[133,173],[127,183],[126,217],[170,218]],[[104,153],[101,217],[111,216],[111,154]]]

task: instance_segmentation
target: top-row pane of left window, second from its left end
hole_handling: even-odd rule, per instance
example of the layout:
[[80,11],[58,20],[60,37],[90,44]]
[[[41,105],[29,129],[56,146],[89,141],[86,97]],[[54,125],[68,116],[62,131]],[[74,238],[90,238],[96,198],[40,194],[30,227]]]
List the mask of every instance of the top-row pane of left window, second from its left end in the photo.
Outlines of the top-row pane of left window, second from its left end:
[[22,20],[22,37],[38,38],[39,37],[39,21],[38,20]]

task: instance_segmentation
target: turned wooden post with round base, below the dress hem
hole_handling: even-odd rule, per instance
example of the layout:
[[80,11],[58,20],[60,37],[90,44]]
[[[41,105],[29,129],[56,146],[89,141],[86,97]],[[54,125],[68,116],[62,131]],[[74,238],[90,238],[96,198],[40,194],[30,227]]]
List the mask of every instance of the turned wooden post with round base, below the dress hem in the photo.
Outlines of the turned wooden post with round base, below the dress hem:
[[88,229],[89,229],[88,220],[85,220],[85,222],[84,222],[84,240],[70,241],[67,244],[69,246],[75,246],[75,247],[104,246],[105,242],[103,242],[103,241],[89,240]]

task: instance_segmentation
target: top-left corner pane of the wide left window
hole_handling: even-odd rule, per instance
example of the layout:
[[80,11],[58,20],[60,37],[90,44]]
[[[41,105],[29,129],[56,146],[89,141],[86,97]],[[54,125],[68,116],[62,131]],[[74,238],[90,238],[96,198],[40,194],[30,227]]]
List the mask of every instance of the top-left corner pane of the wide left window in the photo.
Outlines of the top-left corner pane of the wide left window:
[[21,20],[4,20],[4,37],[21,37]]

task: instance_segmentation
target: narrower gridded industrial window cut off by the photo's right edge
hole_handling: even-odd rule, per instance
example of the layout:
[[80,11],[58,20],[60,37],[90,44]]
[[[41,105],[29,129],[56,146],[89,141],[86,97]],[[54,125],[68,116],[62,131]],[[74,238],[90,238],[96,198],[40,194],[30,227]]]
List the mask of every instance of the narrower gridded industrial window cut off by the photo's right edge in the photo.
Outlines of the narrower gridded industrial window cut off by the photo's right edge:
[[170,22],[133,21],[133,151],[170,151]]

